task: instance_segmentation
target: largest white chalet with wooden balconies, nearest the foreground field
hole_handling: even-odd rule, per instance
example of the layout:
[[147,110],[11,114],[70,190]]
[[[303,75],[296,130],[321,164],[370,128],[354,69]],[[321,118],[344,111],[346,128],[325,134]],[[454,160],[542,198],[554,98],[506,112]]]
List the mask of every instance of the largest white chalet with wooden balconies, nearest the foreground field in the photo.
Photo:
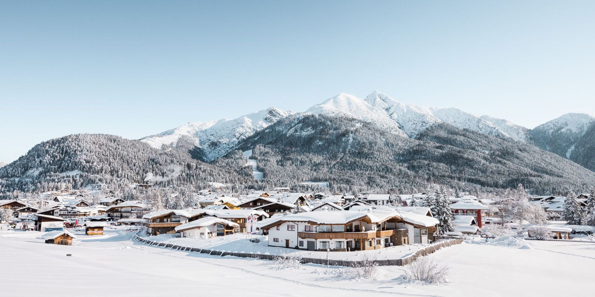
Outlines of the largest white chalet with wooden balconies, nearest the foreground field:
[[427,243],[433,217],[397,211],[311,211],[267,220],[268,245],[309,251],[357,251]]

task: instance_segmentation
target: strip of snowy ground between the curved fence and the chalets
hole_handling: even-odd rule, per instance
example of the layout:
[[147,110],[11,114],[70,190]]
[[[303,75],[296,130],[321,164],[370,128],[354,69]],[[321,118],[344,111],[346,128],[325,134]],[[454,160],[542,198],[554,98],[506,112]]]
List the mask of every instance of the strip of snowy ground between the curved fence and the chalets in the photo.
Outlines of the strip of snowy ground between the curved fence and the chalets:
[[[143,238],[151,241],[165,242],[167,244],[180,245],[182,247],[192,248],[207,248],[215,251],[226,251],[226,252],[253,252],[255,254],[271,254],[271,255],[282,255],[282,254],[296,254],[305,258],[327,258],[327,252],[316,252],[316,251],[300,251],[293,248],[283,247],[268,247],[267,236],[254,235],[255,239],[260,239],[261,242],[254,243],[250,242],[248,238],[250,235],[237,233],[234,235],[219,236],[209,239],[190,239],[180,238],[180,235],[175,234],[162,234],[156,236],[141,235]],[[385,249],[377,249],[372,251],[351,251],[351,252],[329,252],[328,258],[332,260],[360,260],[359,256],[362,254],[372,255],[378,260],[385,259],[398,259],[405,257],[406,255],[413,254],[417,249],[427,247],[428,245],[422,244],[411,244],[402,245],[398,247],[389,247]]]

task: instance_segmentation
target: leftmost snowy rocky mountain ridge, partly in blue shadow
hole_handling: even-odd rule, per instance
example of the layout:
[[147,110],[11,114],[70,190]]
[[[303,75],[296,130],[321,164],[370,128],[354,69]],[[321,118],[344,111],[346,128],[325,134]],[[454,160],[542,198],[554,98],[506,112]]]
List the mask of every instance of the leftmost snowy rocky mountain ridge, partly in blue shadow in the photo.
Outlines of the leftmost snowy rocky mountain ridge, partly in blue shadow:
[[156,149],[161,149],[164,144],[176,146],[180,137],[184,136],[196,146],[201,147],[205,161],[211,161],[226,154],[236,146],[238,141],[274,124],[279,119],[293,115],[293,113],[290,110],[271,107],[236,119],[188,123],[175,129],[141,138],[140,141],[148,143]]

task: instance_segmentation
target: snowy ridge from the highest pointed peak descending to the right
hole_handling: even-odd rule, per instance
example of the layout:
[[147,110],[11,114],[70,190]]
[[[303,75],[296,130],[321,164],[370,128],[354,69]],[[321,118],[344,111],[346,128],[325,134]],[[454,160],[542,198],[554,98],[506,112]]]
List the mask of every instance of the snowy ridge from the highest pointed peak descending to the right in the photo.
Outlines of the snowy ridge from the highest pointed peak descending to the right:
[[471,129],[496,137],[527,140],[527,129],[503,119],[490,116],[479,117],[456,108],[440,109],[403,104],[378,91],[369,94],[366,102],[384,110],[410,137],[417,137],[425,129],[446,122],[458,128]]

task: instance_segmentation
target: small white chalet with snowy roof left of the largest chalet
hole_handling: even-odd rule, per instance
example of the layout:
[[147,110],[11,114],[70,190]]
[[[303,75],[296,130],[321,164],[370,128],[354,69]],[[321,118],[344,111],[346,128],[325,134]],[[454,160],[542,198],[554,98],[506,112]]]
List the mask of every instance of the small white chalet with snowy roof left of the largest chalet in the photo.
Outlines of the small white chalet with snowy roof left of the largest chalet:
[[180,233],[181,238],[205,239],[231,234],[234,228],[240,228],[240,226],[218,217],[202,217],[177,226],[176,233]]

